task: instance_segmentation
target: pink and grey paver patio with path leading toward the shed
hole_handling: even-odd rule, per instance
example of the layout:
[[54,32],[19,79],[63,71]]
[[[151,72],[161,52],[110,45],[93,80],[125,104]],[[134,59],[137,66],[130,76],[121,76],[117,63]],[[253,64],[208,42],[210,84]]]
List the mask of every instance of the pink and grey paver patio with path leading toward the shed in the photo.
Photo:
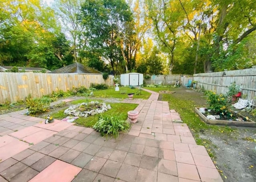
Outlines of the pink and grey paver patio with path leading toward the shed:
[[178,113],[148,92],[148,100],[122,101],[140,113],[117,140],[73,123],[1,115],[0,182],[222,182]]

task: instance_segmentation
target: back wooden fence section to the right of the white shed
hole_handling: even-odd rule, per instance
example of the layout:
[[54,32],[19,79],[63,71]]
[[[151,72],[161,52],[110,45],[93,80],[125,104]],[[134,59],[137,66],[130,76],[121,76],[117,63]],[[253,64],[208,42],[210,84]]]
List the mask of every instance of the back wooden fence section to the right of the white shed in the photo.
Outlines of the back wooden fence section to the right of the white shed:
[[192,75],[152,75],[150,79],[145,80],[146,84],[162,84],[162,85],[175,85],[176,81],[184,86],[188,83],[189,79],[193,79]]

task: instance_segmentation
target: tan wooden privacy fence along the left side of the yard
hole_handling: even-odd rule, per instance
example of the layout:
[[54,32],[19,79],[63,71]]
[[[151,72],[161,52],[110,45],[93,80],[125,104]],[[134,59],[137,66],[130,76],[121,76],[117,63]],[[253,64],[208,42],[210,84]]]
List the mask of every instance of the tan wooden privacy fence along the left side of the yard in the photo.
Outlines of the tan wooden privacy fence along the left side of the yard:
[[29,94],[42,97],[52,91],[68,91],[73,87],[90,87],[91,83],[113,85],[110,76],[104,81],[101,74],[49,74],[49,73],[5,73],[0,72],[0,103],[24,100]]

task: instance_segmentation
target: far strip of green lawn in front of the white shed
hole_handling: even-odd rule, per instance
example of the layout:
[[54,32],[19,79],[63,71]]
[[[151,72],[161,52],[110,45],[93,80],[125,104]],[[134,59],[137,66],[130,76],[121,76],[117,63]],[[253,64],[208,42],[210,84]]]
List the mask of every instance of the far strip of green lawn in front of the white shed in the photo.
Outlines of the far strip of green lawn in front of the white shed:
[[120,98],[120,99],[127,99],[127,93],[134,93],[134,99],[148,99],[150,97],[150,93],[139,90],[139,89],[130,89],[129,87],[119,87],[120,91],[115,91],[115,88],[108,88],[106,90],[97,90],[93,91],[94,97],[101,97],[101,98]]

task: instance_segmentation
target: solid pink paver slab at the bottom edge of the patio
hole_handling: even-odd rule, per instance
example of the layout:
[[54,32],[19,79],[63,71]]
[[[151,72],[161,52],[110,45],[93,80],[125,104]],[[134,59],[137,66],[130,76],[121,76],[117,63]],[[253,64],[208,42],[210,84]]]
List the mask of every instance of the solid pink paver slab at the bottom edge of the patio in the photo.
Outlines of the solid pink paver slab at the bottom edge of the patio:
[[29,182],[71,182],[81,168],[56,160]]

